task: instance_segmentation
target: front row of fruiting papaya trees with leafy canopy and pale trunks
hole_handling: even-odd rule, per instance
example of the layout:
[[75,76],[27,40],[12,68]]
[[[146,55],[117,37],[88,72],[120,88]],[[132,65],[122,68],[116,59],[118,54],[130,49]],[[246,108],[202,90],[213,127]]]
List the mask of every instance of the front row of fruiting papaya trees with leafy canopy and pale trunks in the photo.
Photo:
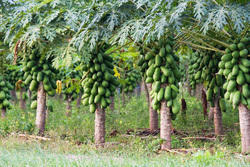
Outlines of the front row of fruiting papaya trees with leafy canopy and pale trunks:
[[[56,89],[54,68],[68,67],[80,57],[84,103],[95,110],[96,144],[103,144],[104,109],[119,85],[110,55],[132,44],[142,54],[135,61],[139,61],[138,69],[150,90],[151,130],[158,128],[159,111],[160,134],[165,140],[162,149],[170,149],[171,116],[179,110],[175,98],[181,78],[176,51],[185,53],[188,46],[197,55],[190,56],[194,64],[187,77],[193,87],[205,84],[214,107],[216,135],[223,133],[225,99],[239,109],[242,152],[249,152],[249,18],[245,1],[3,1],[0,30],[14,63],[22,56],[24,75],[32,74],[27,83],[31,91],[37,91],[40,134],[44,133],[46,94],[53,96]],[[112,47],[116,49],[110,51]],[[38,71],[42,71],[39,77]]]

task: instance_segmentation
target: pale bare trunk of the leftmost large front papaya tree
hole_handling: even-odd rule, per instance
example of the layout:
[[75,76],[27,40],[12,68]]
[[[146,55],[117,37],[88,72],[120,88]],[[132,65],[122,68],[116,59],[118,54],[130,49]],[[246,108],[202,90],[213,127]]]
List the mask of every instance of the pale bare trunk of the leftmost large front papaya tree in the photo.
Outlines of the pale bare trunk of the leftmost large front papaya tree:
[[39,83],[37,91],[37,110],[36,110],[36,127],[39,130],[38,134],[43,136],[46,121],[46,93],[43,83]]

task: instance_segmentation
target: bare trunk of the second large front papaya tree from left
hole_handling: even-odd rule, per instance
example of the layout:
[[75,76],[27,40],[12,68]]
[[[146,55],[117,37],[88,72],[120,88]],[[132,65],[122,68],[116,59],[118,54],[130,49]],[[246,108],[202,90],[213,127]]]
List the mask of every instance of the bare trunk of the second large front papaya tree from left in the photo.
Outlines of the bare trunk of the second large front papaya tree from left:
[[95,111],[95,144],[103,146],[105,143],[105,110],[98,104]]

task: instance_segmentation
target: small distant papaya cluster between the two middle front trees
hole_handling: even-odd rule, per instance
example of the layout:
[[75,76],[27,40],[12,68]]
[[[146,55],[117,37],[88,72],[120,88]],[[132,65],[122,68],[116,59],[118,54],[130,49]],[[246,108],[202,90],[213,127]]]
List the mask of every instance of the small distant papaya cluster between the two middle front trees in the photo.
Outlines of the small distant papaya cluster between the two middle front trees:
[[125,81],[122,85],[122,89],[125,93],[132,92],[137,84],[141,81],[141,74],[140,71],[137,69],[133,69],[131,71],[128,71],[125,75]]

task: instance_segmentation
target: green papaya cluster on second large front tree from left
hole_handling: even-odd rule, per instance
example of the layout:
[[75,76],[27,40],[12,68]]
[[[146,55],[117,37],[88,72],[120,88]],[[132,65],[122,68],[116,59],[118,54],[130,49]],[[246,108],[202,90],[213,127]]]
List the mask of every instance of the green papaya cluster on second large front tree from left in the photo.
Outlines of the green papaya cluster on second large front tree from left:
[[110,97],[114,95],[119,82],[114,76],[113,59],[105,54],[103,46],[94,51],[91,60],[83,66],[82,96],[83,105],[90,105],[90,112],[95,112],[97,105],[105,109],[111,103]]

